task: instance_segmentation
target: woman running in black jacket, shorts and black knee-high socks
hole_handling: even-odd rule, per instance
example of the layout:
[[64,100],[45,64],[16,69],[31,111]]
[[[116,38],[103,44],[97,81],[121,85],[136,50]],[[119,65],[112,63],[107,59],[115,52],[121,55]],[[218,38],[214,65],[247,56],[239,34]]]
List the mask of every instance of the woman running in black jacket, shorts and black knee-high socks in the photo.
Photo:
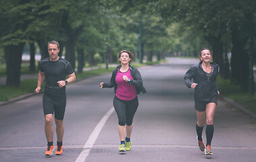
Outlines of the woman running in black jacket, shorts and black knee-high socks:
[[[204,48],[200,53],[200,63],[193,65],[184,76],[184,82],[188,88],[195,89],[195,109],[197,113],[197,140],[201,151],[205,155],[212,155],[211,140],[213,138],[213,117],[217,105],[216,76],[220,72],[220,67],[216,63],[211,63],[211,52]],[[193,82],[192,82],[193,79]],[[203,124],[206,115],[206,148],[203,144]]]

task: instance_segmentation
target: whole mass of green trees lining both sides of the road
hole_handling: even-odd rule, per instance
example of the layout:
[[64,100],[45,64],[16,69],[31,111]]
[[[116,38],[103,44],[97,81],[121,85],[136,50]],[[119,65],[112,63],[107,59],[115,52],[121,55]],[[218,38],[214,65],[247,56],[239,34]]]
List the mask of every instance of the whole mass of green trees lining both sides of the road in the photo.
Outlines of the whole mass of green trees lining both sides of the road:
[[[232,76],[242,90],[249,88],[250,38],[255,47],[256,37],[256,32],[252,32],[256,7],[253,0],[2,0],[0,3],[0,44],[5,53],[9,86],[20,85],[25,43],[30,43],[30,58],[34,58],[34,43],[38,43],[44,58],[47,42],[56,40],[61,45],[59,54],[63,54],[65,47],[65,57],[73,68],[78,60],[78,72],[82,72],[85,54],[91,64],[95,53],[108,56],[111,62],[116,61],[118,51],[128,49],[141,52],[142,58],[152,61],[153,55],[161,59],[164,53],[198,56],[202,47],[209,47],[222,76]],[[232,53],[231,61],[228,52]],[[31,59],[32,70],[33,63]]]

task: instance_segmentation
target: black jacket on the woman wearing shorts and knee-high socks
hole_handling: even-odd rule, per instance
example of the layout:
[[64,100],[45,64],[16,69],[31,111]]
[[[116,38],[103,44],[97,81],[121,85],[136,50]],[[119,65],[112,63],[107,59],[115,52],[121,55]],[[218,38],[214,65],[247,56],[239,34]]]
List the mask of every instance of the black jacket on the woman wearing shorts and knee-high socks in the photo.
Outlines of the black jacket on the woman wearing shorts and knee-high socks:
[[209,79],[206,72],[201,68],[202,61],[193,65],[184,76],[184,82],[188,88],[191,88],[193,81],[198,85],[195,87],[195,101],[210,101],[213,97],[217,96],[217,83],[216,77],[220,72],[220,67],[216,63],[211,63],[213,67],[212,74]]

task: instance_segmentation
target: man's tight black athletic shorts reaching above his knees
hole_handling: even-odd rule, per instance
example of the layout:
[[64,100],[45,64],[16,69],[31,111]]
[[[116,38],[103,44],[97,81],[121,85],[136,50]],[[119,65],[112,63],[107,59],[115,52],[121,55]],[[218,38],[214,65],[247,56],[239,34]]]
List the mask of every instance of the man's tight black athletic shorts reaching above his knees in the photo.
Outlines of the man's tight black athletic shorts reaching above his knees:
[[66,94],[61,96],[43,94],[43,112],[45,115],[53,114],[55,119],[63,120],[66,109]]

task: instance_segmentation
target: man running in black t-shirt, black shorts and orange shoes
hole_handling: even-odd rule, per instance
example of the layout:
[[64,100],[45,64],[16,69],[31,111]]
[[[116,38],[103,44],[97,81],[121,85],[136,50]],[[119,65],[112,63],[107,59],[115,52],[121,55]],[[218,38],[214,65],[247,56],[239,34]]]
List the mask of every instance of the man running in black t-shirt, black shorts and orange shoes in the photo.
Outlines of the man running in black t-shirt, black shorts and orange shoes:
[[[66,85],[76,80],[76,75],[70,63],[59,57],[59,43],[48,43],[49,57],[39,63],[39,76],[37,88],[39,94],[41,85],[45,80],[45,92],[43,94],[43,111],[45,113],[45,135],[47,138],[47,151],[45,156],[53,155],[53,112],[56,124],[57,150],[55,155],[62,155],[62,139],[64,134],[63,117],[66,109]],[[68,76],[68,79],[66,79]]]

